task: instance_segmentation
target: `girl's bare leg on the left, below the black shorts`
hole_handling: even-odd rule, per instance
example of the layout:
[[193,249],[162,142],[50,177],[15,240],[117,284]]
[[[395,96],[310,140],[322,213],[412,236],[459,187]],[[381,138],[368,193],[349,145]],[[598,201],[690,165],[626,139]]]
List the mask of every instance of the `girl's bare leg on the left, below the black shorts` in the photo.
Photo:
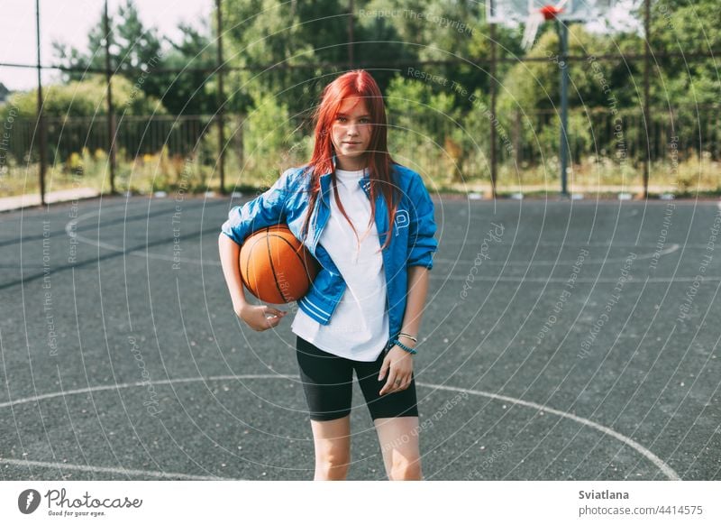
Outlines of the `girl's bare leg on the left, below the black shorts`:
[[351,415],[310,422],[315,444],[314,481],[344,480],[351,464]]

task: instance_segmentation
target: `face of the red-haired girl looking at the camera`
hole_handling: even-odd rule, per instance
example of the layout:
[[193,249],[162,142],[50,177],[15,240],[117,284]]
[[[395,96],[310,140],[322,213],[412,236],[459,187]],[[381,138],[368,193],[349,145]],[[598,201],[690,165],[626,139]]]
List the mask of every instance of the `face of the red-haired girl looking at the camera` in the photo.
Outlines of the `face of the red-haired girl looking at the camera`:
[[360,97],[343,100],[331,130],[336,167],[341,170],[362,170],[370,145],[370,113]]

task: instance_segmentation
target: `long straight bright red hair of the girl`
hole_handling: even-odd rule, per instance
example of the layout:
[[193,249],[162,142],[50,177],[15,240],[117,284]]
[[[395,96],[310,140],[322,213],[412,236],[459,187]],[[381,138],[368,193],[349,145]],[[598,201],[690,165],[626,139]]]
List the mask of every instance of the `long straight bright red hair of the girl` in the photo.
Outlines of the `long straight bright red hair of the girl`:
[[[365,103],[370,114],[372,126],[370,143],[366,151],[367,167],[370,178],[370,223],[375,221],[376,196],[382,192],[388,208],[388,231],[386,242],[380,247],[381,250],[388,246],[392,235],[393,221],[396,217],[398,191],[397,185],[392,180],[392,164],[396,162],[390,158],[388,153],[388,124],[386,120],[386,106],[383,104],[383,95],[375,79],[365,69],[355,69],[335,78],[323,90],[321,103],[315,108],[315,145],[313,156],[306,164],[306,177],[309,178],[308,213],[303,226],[303,235],[307,235],[310,224],[310,216],[315,208],[315,202],[320,192],[320,176],[324,173],[333,172],[333,190],[336,188],[335,170],[333,170],[333,141],[331,140],[331,128],[335,117],[338,115],[342,102],[347,97],[360,97]],[[351,224],[351,219],[345,213],[337,191],[333,191],[335,202],[338,204],[342,215]],[[355,228],[353,228],[355,231]],[[356,238],[358,235],[356,234]]]

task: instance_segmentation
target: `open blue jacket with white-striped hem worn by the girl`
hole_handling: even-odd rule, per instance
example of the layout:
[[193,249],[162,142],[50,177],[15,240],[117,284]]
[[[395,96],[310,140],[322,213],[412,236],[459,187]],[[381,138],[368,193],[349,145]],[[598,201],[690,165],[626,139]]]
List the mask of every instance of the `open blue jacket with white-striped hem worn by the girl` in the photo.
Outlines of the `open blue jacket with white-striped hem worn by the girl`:
[[[310,179],[304,173],[304,168],[301,166],[286,170],[264,193],[242,206],[231,208],[228,220],[221,227],[222,232],[236,244],[242,244],[248,235],[260,228],[285,223],[293,235],[301,240],[308,208],[307,189]],[[421,176],[400,164],[392,164],[392,169],[402,198],[398,203],[391,231],[393,238],[382,252],[386,274],[389,342],[398,335],[403,325],[408,267],[424,266],[431,270],[434,264],[433,256],[438,248],[434,238],[434,204]],[[321,268],[310,290],[297,301],[300,309],[322,325],[330,322],[333,310],[346,289],[346,283],[330,255],[322,244],[318,244],[331,212],[331,176],[330,171],[320,176],[321,195],[315,201],[314,214],[311,216],[304,242]],[[358,182],[370,198],[368,173]],[[388,229],[388,208],[382,193],[376,196],[375,220],[379,244],[382,245],[386,242]],[[389,342],[388,346],[391,346]]]

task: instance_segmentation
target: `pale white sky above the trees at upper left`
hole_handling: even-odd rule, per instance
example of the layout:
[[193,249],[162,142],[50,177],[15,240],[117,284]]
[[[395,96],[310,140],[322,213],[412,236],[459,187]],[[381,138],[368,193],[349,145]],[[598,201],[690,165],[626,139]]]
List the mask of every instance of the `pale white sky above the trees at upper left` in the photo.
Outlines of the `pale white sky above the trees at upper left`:
[[[2,0],[0,15],[0,63],[35,64],[37,42],[35,40],[34,0]],[[109,0],[110,13],[117,11],[125,0]],[[55,63],[52,41],[86,50],[87,33],[100,20],[105,0],[41,0],[41,61],[43,65]],[[161,35],[177,40],[178,23],[191,23],[209,17],[213,0],[136,0],[135,5],[146,26],[155,26]],[[43,83],[57,78],[58,72],[44,70]],[[0,82],[11,90],[30,89],[37,86],[36,69],[6,68],[0,66]]]

